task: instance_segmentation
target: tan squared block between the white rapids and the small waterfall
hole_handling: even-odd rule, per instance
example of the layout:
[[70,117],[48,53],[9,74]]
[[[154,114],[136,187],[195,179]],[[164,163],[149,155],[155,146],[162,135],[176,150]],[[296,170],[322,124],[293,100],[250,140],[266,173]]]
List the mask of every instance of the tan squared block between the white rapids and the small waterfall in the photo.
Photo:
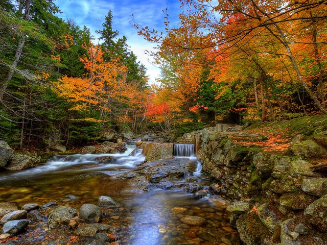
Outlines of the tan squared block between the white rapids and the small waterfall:
[[145,155],[145,161],[171,158],[173,156],[172,143],[153,143],[147,142],[142,144],[142,154]]

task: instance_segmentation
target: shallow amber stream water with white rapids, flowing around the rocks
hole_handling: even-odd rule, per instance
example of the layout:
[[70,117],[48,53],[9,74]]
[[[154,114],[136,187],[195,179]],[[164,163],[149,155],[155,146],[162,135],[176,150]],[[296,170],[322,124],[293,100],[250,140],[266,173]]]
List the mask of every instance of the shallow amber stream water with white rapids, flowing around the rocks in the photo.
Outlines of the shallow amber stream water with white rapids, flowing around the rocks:
[[[118,207],[105,210],[102,223],[121,227],[121,244],[239,244],[237,232],[228,224],[225,203],[217,197],[200,200],[182,191],[134,189],[129,180],[112,178],[142,164],[145,157],[135,144],[126,145],[121,154],[61,155],[31,169],[0,173],[0,202],[14,202],[18,207],[27,203],[48,202],[79,210],[84,203],[97,204],[102,195],[111,197]],[[195,157],[190,157],[197,161]],[[207,185],[197,161],[193,175]],[[74,195],[76,200],[67,196]],[[48,210],[41,210],[47,215]],[[184,215],[204,217],[203,226],[183,224]],[[28,226],[15,244],[68,244],[73,232],[46,229],[45,222]],[[60,236],[60,241],[58,236]],[[79,237],[74,244],[87,244],[94,237]],[[86,243],[85,243],[86,242]]]

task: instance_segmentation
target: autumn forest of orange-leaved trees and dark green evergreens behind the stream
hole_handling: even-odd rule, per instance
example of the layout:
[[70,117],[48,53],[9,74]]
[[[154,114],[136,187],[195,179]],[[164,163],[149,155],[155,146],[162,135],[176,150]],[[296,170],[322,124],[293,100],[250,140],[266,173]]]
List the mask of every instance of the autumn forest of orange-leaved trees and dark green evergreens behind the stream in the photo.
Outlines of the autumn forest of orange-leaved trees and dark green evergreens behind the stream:
[[147,68],[112,28],[95,39],[51,0],[0,3],[0,139],[24,149],[94,143],[104,129],[181,135],[327,114],[327,1],[182,0],[178,27],[134,22]]

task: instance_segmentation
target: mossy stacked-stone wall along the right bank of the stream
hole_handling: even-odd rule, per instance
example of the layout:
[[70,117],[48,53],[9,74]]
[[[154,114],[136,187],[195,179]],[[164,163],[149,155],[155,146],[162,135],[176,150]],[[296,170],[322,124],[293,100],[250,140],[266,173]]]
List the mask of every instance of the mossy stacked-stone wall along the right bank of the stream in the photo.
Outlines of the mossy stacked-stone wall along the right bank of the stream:
[[[199,136],[200,134],[200,136]],[[327,244],[327,132],[296,135],[285,151],[249,132],[197,132],[197,155],[231,200],[230,225],[245,244]],[[245,140],[247,139],[247,140]]]

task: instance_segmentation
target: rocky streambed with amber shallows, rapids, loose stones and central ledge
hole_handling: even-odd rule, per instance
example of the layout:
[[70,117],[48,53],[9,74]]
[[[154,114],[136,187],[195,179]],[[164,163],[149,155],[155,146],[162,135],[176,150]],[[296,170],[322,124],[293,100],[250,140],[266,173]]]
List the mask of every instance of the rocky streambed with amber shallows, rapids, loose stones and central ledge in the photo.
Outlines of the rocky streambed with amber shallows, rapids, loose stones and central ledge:
[[135,145],[62,155],[1,173],[0,237],[6,244],[240,244],[230,203],[209,190],[195,157],[173,157],[169,144],[138,144],[133,152]]

